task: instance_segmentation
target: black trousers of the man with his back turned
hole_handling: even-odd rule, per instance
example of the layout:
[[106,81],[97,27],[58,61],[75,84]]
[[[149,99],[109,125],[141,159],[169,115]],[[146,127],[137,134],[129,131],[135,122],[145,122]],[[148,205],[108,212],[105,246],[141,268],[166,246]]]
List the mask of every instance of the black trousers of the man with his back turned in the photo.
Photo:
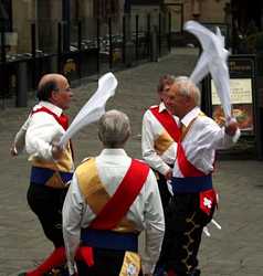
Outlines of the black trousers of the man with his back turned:
[[[118,276],[123,266],[125,251],[94,248],[94,265],[77,262],[78,276]],[[140,274],[141,272],[140,272]]]

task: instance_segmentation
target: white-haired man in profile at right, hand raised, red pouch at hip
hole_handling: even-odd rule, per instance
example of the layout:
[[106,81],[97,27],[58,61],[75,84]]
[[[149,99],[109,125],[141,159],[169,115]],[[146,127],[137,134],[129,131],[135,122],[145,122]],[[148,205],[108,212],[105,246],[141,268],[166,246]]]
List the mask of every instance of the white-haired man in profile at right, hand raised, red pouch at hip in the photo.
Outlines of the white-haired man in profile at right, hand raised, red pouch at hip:
[[231,147],[240,130],[232,118],[227,118],[229,124],[220,128],[201,113],[200,92],[187,77],[176,78],[167,100],[180,119],[181,137],[170,181],[173,197],[168,206],[160,263],[168,275],[197,276],[202,230],[217,205],[211,178],[215,150]]

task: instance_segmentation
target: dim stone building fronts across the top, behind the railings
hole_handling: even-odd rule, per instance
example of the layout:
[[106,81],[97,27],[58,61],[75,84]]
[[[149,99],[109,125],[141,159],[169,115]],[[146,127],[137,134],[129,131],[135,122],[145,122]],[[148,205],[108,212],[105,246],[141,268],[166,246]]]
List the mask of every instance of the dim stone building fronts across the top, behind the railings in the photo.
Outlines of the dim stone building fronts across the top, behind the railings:
[[[262,0],[1,0],[0,29],[11,52],[31,52],[31,23],[36,26],[36,46],[52,52],[57,49],[57,23],[63,21],[63,40],[76,41],[76,22],[83,22],[83,36],[96,35],[96,18],[102,24],[114,20],[115,32],[122,30],[122,18],[162,11],[171,13],[171,31],[180,32],[185,21],[220,23],[244,31],[250,22],[261,30]],[[70,24],[66,24],[70,23]],[[103,30],[103,29],[102,29]],[[67,45],[67,46],[69,46]]]

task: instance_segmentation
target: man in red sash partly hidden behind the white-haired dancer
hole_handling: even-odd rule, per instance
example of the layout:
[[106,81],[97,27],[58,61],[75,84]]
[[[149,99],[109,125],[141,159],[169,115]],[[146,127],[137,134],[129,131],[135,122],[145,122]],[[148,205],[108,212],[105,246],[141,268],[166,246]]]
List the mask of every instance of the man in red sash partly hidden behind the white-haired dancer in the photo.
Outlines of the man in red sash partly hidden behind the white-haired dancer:
[[151,106],[145,113],[141,129],[143,158],[157,173],[164,210],[170,199],[167,180],[172,176],[171,167],[175,163],[179,138],[178,118],[171,115],[167,103],[167,93],[173,82],[175,77],[171,75],[164,75],[159,79],[157,92],[160,104]]

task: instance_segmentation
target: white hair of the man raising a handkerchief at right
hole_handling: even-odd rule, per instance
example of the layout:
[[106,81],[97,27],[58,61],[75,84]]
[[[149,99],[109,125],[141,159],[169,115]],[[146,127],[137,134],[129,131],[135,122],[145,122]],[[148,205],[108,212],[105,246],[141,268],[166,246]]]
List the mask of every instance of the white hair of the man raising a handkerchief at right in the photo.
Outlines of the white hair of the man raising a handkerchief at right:
[[192,97],[196,105],[201,105],[201,95],[197,85],[187,76],[176,77],[175,83],[177,84],[178,91],[181,95]]

